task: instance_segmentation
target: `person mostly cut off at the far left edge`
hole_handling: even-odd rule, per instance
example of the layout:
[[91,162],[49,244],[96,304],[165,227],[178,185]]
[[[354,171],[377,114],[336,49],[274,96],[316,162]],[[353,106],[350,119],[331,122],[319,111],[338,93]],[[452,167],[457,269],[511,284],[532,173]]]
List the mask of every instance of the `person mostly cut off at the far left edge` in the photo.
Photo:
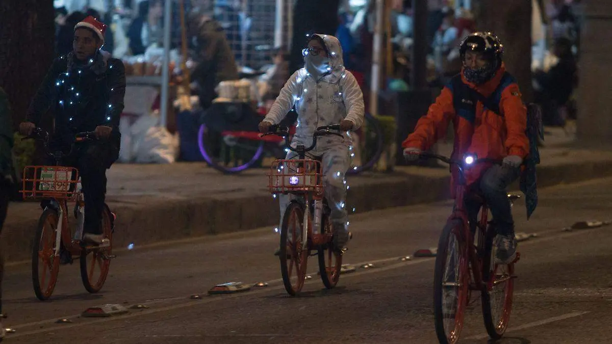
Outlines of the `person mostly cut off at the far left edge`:
[[[10,119],[9,97],[0,88],[0,233],[9,208],[10,190],[13,182],[12,149],[13,132]],[[4,276],[4,253],[0,247],[0,342],[6,330],[2,326],[2,277]]]

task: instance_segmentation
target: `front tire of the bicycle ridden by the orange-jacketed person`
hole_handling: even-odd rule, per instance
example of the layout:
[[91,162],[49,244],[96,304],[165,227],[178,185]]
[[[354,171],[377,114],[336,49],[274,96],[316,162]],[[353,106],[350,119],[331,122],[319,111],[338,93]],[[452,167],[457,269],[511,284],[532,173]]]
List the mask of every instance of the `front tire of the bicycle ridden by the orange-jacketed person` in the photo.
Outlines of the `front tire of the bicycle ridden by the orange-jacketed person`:
[[[436,264],[435,264],[435,273],[434,273],[434,286],[433,286],[433,307],[434,307],[434,321],[436,327],[436,335],[438,336],[438,340],[441,344],[455,344],[459,340],[459,336],[461,334],[461,329],[463,329],[463,318],[465,316],[465,308],[468,304],[468,293],[469,293],[469,269],[468,269],[468,260],[466,255],[466,250],[463,248],[463,241],[457,235],[463,231],[463,222],[458,219],[453,219],[447,222],[446,226],[442,230],[440,235],[440,239],[438,241],[438,251],[436,253]],[[455,316],[453,320],[453,328],[450,333],[447,334],[447,331],[444,326],[445,320],[445,312],[444,312],[444,286],[442,283],[444,282],[444,271],[447,262],[447,255],[449,254],[449,241],[452,236],[455,236],[457,239],[458,250],[455,249],[455,252],[458,252],[457,262],[459,268],[458,271],[458,283],[459,286],[457,288],[457,304],[455,307]],[[452,282],[451,282],[452,283]]]

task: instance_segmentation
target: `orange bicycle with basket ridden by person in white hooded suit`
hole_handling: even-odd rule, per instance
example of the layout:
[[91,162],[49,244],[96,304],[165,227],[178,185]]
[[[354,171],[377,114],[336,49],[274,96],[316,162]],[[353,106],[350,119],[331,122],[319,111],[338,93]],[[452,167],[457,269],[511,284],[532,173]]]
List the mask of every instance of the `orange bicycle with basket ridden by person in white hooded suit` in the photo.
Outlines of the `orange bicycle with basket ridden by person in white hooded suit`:
[[[291,296],[300,293],[304,286],[308,257],[312,250],[316,250],[318,255],[319,274],[323,285],[327,289],[332,289],[340,280],[343,252],[334,246],[334,230],[329,221],[330,208],[324,197],[321,162],[306,159],[306,153],[315,148],[318,136],[342,137],[338,130],[340,125],[318,127],[313,135],[312,145],[308,148],[301,144],[293,148],[287,143],[287,148],[296,152],[298,159],[275,160],[270,173],[267,174],[269,190],[273,195],[283,193],[297,196],[297,200],[292,200],[285,209],[278,255],[283,284]],[[272,125],[269,132],[263,135],[286,138],[289,135],[289,128]],[[291,235],[289,235],[290,229]],[[293,267],[295,267],[295,277],[291,274]]]

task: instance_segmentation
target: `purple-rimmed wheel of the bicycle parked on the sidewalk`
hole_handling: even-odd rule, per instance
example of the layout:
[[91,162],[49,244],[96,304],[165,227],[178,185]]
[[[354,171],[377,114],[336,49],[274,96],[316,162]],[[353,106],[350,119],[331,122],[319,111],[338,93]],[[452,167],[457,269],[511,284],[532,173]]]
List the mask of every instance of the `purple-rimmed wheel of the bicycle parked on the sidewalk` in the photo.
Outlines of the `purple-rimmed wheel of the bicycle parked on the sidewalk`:
[[240,173],[259,160],[264,141],[234,138],[200,125],[198,146],[204,160],[223,173]]

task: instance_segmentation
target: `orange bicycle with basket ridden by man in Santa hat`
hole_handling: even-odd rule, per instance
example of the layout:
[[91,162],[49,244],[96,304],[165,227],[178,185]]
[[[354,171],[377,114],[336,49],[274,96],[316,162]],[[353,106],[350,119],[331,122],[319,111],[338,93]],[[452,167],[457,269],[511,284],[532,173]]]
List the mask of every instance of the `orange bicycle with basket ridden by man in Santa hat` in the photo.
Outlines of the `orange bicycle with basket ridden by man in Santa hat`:
[[[60,259],[80,258],[81,281],[89,293],[97,293],[102,289],[112,252],[112,234],[114,232],[113,214],[105,204],[102,212],[102,230],[105,239],[100,245],[85,245],[83,243],[84,198],[80,190],[78,170],[62,166],[61,161],[72,155],[74,143],[95,140],[93,132],[83,132],[75,135],[75,142],[68,154],[58,150],[49,152],[48,133],[35,128],[31,138],[42,140],[45,151],[55,160],[54,166],[25,166],[23,171],[24,200],[48,200],[50,204],[43,210],[37,225],[32,247],[32,284],[34,293],[40,301],[51,297],[58,279]],[[68,202],[75,202],[74,216],[76,226],[71,230],[69,225]],[[91,255],[90,255],[91,254]],[[88,262],[88,256],[91,260]],[[97,264],[96,264],[97,263]],[[88,267],[89,264],[89,267]],[[98,266],[99,274],[94,276]],[[48,275],[48,279],[47,279]],[[95,277],[95,278],[94,278]]]

